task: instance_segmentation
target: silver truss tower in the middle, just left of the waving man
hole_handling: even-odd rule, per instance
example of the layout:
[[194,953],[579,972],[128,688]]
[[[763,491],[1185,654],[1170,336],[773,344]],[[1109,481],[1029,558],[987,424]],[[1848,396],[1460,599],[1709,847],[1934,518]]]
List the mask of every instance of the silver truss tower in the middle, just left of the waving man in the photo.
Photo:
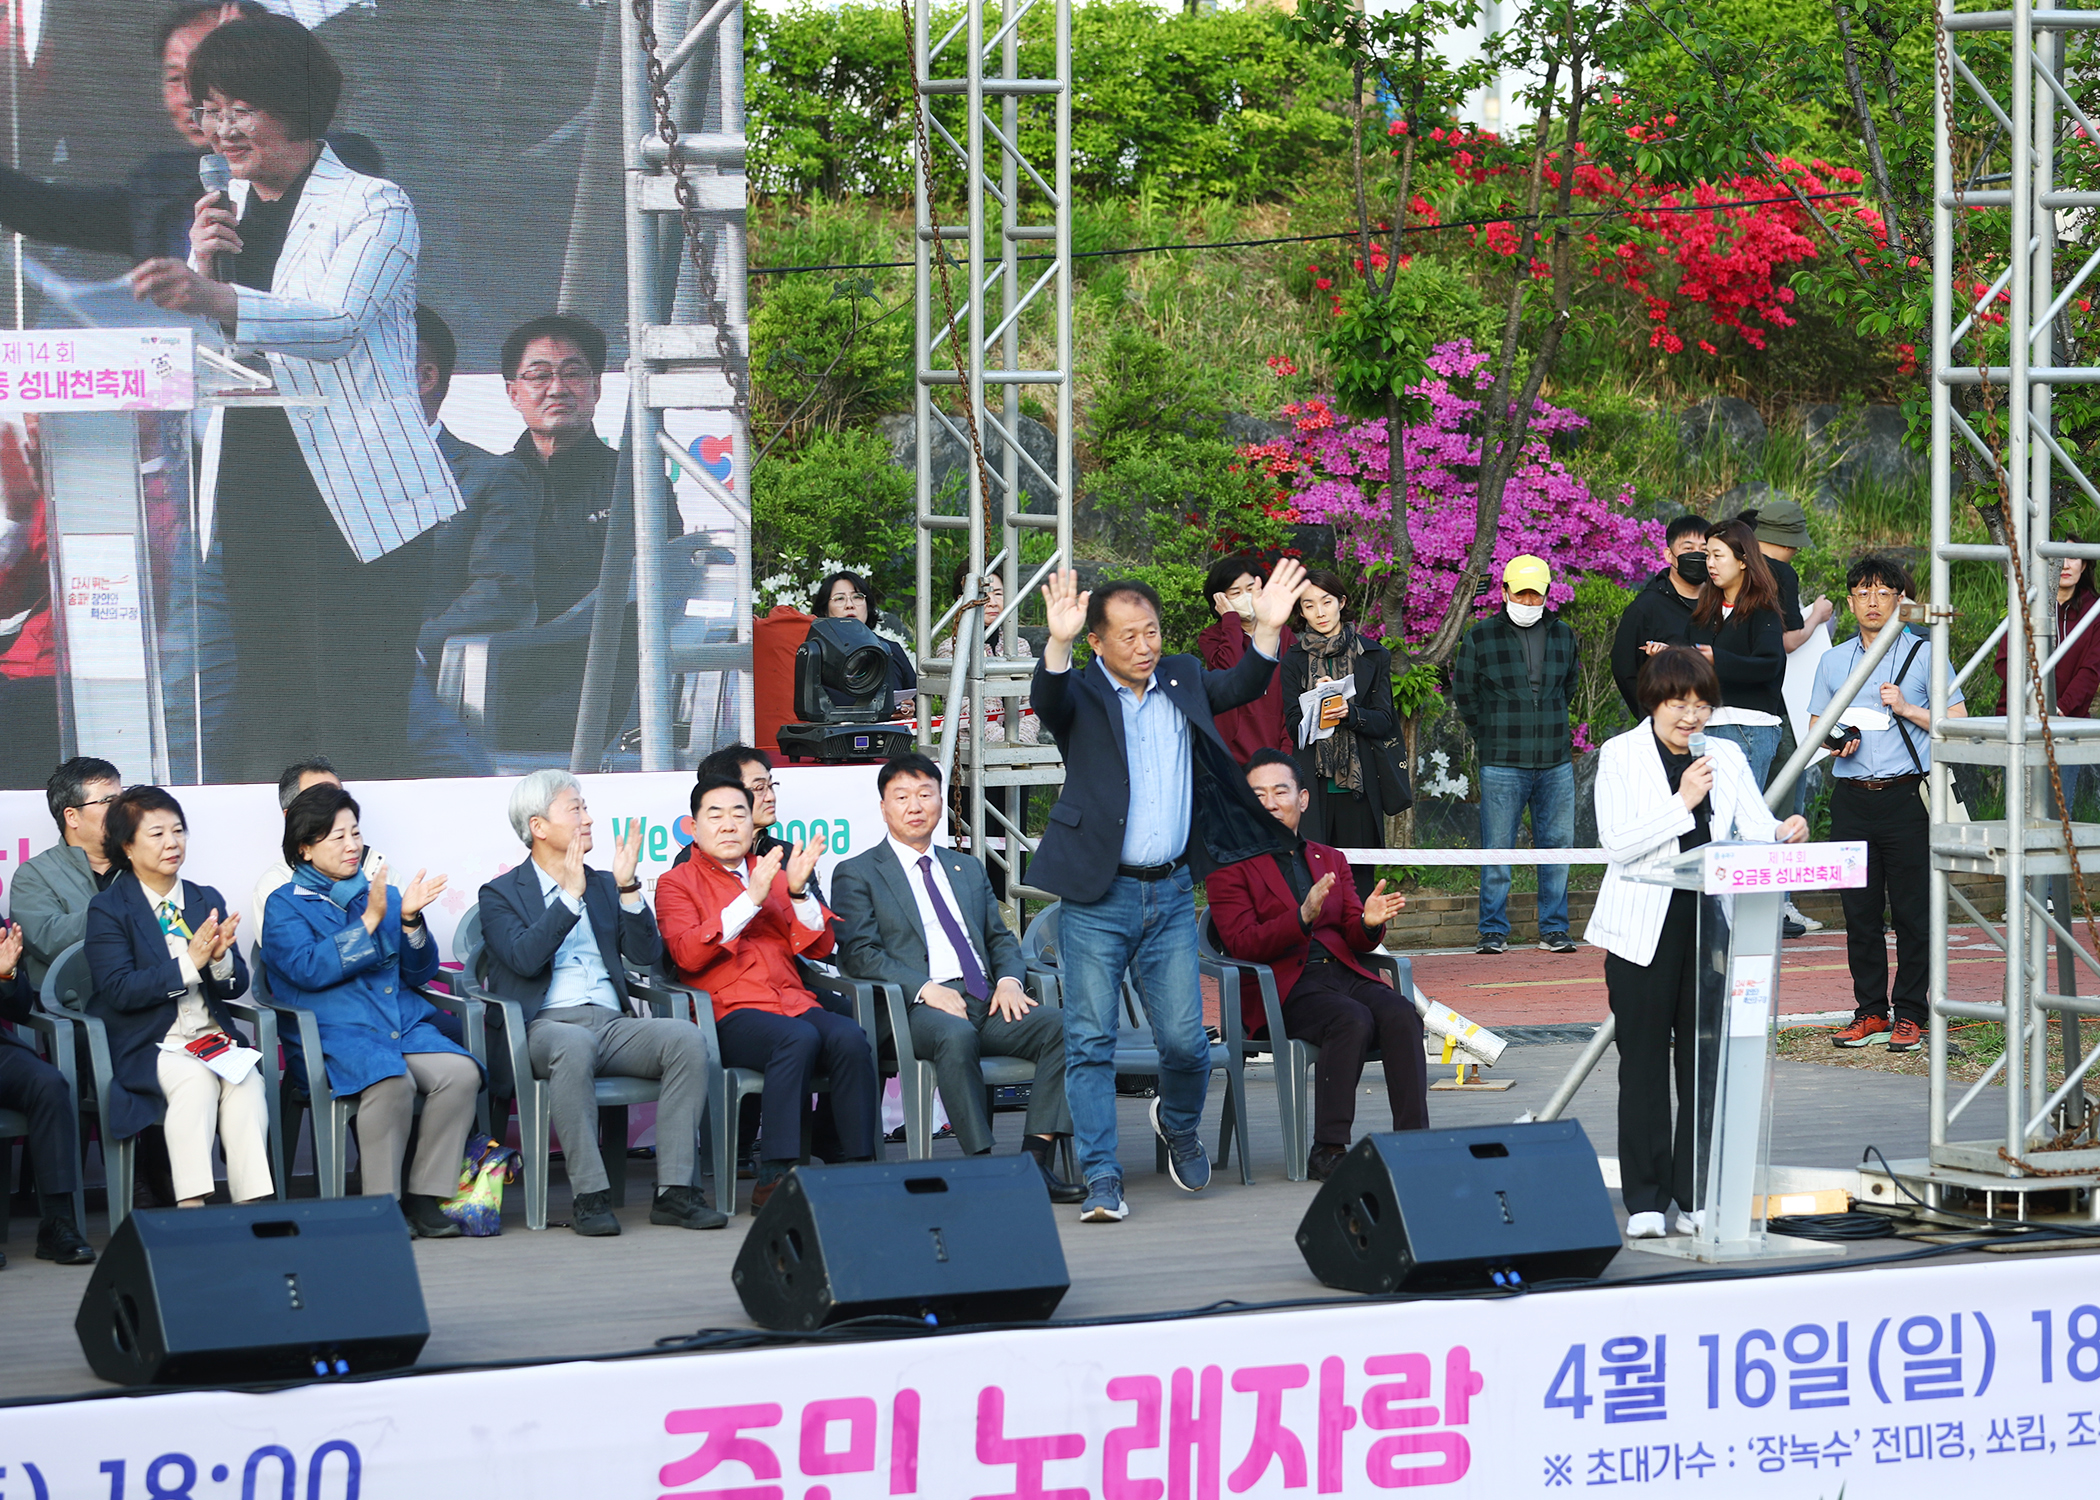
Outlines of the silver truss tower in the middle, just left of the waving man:
[[[1037,8],[1052,13],[1046,78],[1025,76],[1021,65],[1021,25]],[[1021,857],[1035,847],[1023,828],[1027,788],[1065,779],[1054,746],[1021,744],[1021,702],[1033,662],[1021,651],[1018,626],[1027,597],[1050,569],[1071,567],[1073,557],[1071,0],[966,0],[962,15],[939,38],[932,36],[932,0],[914,0],[911,59],[922,120],[914,145],[911,397],[918,445],[918,739],[962,792],[951,803],[960,821],[951,828],[951,842],[968,847],[989,870],[1004,872],[1008,899],[1014,899],[1033,895],[1025,887]],[[958,130],[937,116],[937,99],[962,103]],[[1023,130],[1037,124],[1044,109],[1052,116],[1048,164],[1029,160]],[[1023,111],[1033,118],[1025,120]],[[968,210],[962,225],[943,225],[934,189],[941,174],[958,166]],[[941,254],[949,261],[945,273],[937,265]],[[1050,347],[1048,368],[1023,366],[1025,340],[1031,349]],[[964,410],[976,416],[974,435],[934,399],[943,389],[966,391]],[[1000,393],[998,410],[987,408],[987,389]],[[1054,473],[1021,443],[1021,401],[1031,389],[1050,397],[1046,405],[1054,403]],[[934,447],[943,435],[972,456],[956,500],[934,492]],[[974,462],[979,452],[985,454],[983,466]],[[1054,485],[1052,513],[1027,511],[1025,475]],[[934,542],[941,532],[962,532],[968,540],[962,597],[945,611],[934,609]],[[1052,536],[1054,548],[1048,559],[1027,563],[1025,540],[1037,534]],[[998,613],[981,603],[987,578],[1004,586],[1006,603]],[[949,626],[953,660],[941,683],[934,674],[937,647]],[[983,649],[985,643],[995,651]],[[939,729],[926,704],[932,695],[943,710]],[[985,735],[991,702],[1000,704],[1000,744],[987,744]],[[1018,790],[1000,809],[985,796],[993,788]]]

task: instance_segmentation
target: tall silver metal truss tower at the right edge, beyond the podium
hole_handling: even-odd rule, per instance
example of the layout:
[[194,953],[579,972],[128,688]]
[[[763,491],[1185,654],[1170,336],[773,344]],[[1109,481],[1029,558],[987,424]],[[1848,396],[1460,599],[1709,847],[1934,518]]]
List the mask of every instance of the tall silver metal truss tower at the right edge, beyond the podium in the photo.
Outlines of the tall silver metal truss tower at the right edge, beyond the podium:
[[[2100,546],[2052,540],[2056,496],[2100,502],[2094,477],[2058,441],[2052,422],[2060,387],[2100,382],[2100,368],[2077,361],[2062,319],[2100,269],[2100,250],[2085,235],[2062,265],[2058,254],[2073,248],[2079,221],[2100,206],[2100,193],[2058,185],[2068,143],[2100,137],[2073,95],[2077,78],[2092,74],[2100,13],[2035,0],[2014,0],[2010,11],[1957,11],[1955,0],[1940,0],[1938,19],[1945,57],[1934,90],[1932,183],[1932,1109],[1928,1162],[1898,1162],[1896,1174],[1915,1176],[1934,1204],[1959,1195],[1980,1202],[1984,1212],[2018,1208],[2024,1216],[2031,1193],[2073,1189],[2085,1195],[2087,1212],[2100,1214],[2094,1191],[2100,1149],[2050,1151],[2035,1162],[2037,1147],[2085,1124],[2083,1080],[2100,1059],[2100,1046],[2085,1050],[2079,1040],[2079,1019],[2100,1015],[2100,1000],[2081,998],[2075,981],[2079,964],[2100,975],[2100,960],[2073,937],[2071,882],[2062,878],[2077,849],[2085,880],[2100,891],[2100,826],[2066,826],[2052,777],[2052,763],[2064,771],[2100,763],[2100,721],[2058,714],[2050,687],[2064,649],[2100,620],[2092,611],[2068,639],[2056,639],[2058,567],[2066,557],[2100,557]],[[2073,59],[2073,50],[2083,57]],[[1987,290],[1978,292],[1978,284]],[[2001,538],[1993,529],[1989,544],[1953,540],[1957,475],[1984,494],[1999,492]],[[2003,569],[2006,590],[2003,624],[1959,668],[1947,655],[1955,563]],[[1974,679],[1999,641],[2016,685],[2008,691],[2008,714],[1949,718],[1949,689]],[[2031,645],[2041,704],[2033,691],[2018,691],[2031,685]],[[2003,771],[2003,819],[1976,821],[1959,807],[1951,792],[1955,765]],[[2003,878],[2001,924],[1984,920],[1949,880],[1957,872]],[[1949,996],[1951,910],[1982,924],[2006,954],[1997,1000]],[[2056,1086],[2048,1063],[2050,1013],[2062,1025],[2068,1069]],[[2006,1027],[2003,1057],[1957,1099],[1947,1069],[1951,1021]],[[1993,1082],[2003,1088],[1987,1105]],[[1991,1122],[1991,1113],[1999,1118]]]

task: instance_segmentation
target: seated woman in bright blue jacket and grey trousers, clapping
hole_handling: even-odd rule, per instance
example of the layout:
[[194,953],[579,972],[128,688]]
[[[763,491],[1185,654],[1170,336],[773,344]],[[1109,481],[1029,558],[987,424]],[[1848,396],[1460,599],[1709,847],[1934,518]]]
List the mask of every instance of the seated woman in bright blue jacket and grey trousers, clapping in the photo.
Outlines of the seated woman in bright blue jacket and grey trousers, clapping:
[[[376,863],[368,882],[357,798],[332,784],[309,786],[286,809],[284,859],[292,884],[271,895],[262,922],[271,989],[279,1004],[313,1011],[330,1088],[357,1095],[365,1193],[397,1195],[418,1237],[452,1239],[460,1227],[439,1204],[460,1191],[481,1067],[430,1025],[430,1002],[414,989],[437,973],[422,910],[445,876],[418,870],[405,891],[393,891],[386,866]],[[424,1097],[422,1137],[403,1193],[416,1095]]]

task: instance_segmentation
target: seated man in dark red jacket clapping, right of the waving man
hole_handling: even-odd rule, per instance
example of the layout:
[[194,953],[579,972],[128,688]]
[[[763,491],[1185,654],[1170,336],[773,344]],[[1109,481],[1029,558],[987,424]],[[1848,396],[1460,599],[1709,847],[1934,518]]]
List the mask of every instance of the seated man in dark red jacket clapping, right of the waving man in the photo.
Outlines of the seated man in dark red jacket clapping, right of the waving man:
[[[1308,794],[1287,754],[1258,750],[1247,763],[1247,786],[1289,830],[1289,845],[1275,855],[1222,866],[1203,891],[1218,924],[1218,943],[1233,958],[1275,971],[1285,1034],[1319,1048],[1306,1172],[1325,1183],[1348,1151],[1357,1124],[1357,1082],[1373,1040],[1384,1053],[1392,1128],[1426,1130],[1430,1124],[1422,1017],[1407,996],[1357,958],[1378,947],[1386,920],[1407,905],[1407,897],[1386,895],[1386,882],[1380,880],[1359,901],[1357,880],[1342,851],[1298,836]],[[1247,1034],[1254,1036],[1264,1021],[1260,998],[1241,1000],[1241,1006]]]

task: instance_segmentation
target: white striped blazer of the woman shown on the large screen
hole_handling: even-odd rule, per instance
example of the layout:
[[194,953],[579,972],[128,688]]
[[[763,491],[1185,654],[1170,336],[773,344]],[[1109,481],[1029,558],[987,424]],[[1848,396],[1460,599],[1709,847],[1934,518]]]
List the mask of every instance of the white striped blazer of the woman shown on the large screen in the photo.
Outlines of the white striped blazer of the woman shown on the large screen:
[[[235,208],[248,183],[233,183]],[[370,563],[464,508],[416,397],[416,208],[395,183],[321,147],[269,292],[235,288],[242,351],[269,357],[277,387],[319,397],[290,408],[292,433],[342,540]],[[208,548],[225,410],[204,435]]]

